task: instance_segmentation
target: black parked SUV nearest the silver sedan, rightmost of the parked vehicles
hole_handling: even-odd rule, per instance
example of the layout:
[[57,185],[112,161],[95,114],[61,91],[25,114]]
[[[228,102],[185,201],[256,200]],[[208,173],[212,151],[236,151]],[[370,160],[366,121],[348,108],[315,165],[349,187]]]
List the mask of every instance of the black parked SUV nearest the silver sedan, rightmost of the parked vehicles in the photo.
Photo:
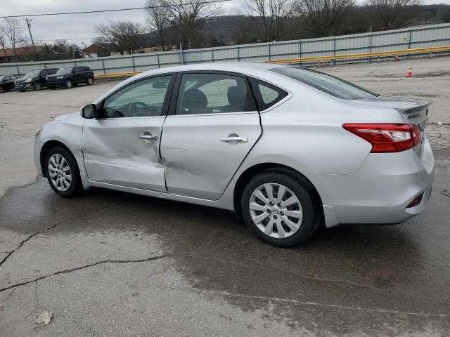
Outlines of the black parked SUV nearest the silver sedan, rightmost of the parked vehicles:
[[89,67],[64,67],[60,68],[56,74],[48,76],[46,83],[51,89],[57,86],[70,89],[80,83],[90,86],[94,83],[94,72]]

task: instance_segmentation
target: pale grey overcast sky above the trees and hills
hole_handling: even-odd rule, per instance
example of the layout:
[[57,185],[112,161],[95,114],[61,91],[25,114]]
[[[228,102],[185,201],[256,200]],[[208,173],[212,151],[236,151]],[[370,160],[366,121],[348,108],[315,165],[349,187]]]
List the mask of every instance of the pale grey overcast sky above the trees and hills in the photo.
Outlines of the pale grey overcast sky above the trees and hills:
[[[236,12],[236,4],[240,0],[233,0],[224,4],[224,14]],[[361,1],[361,0],[359,0]],[[423,4],[450,4],[450,0],[422,0]],[[142,7],[145,0],[0,0],[0,13],[3,15],[27,15],[38,13],[56,13],[70,11],[96,11],[102,9]],[[19,18],[23,20],[23,18]],[[94,26],[106,23],[108,20],[131,20],[145,24],[143,11],[124,11],[111,13],[95,13],[83,15],[42,16],[32,18],[32,34],[35,40],[76,39],[70,40],[82,45],[91,42],[95,37]],[[27,26],[23,22],[23,32]],[[37,44],[44,44],[39,41]]]

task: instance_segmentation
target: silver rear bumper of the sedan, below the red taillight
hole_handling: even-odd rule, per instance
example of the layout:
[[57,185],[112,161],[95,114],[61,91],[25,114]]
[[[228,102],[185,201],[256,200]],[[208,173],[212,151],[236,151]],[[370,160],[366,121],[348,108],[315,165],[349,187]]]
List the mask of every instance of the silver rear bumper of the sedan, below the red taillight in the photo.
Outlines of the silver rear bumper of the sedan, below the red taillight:
[[[338,224],[402,223],[426,209],[434,180],[435,159],[425,138],[420,158],[412,149],[371,153],[350,175],[319,175],[326,227]],[[423,194],[416,206],[411,201]]]

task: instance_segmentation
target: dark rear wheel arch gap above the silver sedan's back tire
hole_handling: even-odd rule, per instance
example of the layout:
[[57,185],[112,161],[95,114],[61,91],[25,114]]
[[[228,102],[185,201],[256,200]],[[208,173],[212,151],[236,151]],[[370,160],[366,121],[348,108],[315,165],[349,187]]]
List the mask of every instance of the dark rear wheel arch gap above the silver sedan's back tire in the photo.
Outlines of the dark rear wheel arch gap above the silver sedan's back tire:
[[311,181],[299,171],[291,168],[290,166],[278,163],[255,164],[253,166],[250,166],[248,169],[246,169],[245,171],[243,171],[243,173],[240,174],[238,180],[236,181],[236,185],[233,191],[233,206],[238,216],[241,216],[242,212],[240,208],[240,197],[242,196],[242,192],[244,190],[245,185],[248,184],[250,179],[257,176],[258,174],[270,171],[278,171],[284,173],[286,176],[290,176],[291,178],[300,180],[302,181],[302,183],[305,183],[305,185],[309,187],[309,190],[311,191],[311,194],[314,197],[314,201],[316,201],[314,202],[314,204],[317,207],[316,211],[319,211],[322,214],[323,218],[322,199],[316,187],[314,187],[313,183],[311,183]]

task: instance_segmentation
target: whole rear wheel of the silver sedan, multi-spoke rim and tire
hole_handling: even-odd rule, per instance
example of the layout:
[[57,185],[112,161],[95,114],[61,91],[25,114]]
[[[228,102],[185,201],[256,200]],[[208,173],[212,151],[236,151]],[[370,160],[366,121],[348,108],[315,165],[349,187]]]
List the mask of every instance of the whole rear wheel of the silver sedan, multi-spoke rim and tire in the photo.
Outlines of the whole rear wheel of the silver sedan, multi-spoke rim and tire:
[[314,197],[302,181],[277,171],[255,176],[244,188],[241,208],[247,225],[275,246],[305,242],[319,225]]

